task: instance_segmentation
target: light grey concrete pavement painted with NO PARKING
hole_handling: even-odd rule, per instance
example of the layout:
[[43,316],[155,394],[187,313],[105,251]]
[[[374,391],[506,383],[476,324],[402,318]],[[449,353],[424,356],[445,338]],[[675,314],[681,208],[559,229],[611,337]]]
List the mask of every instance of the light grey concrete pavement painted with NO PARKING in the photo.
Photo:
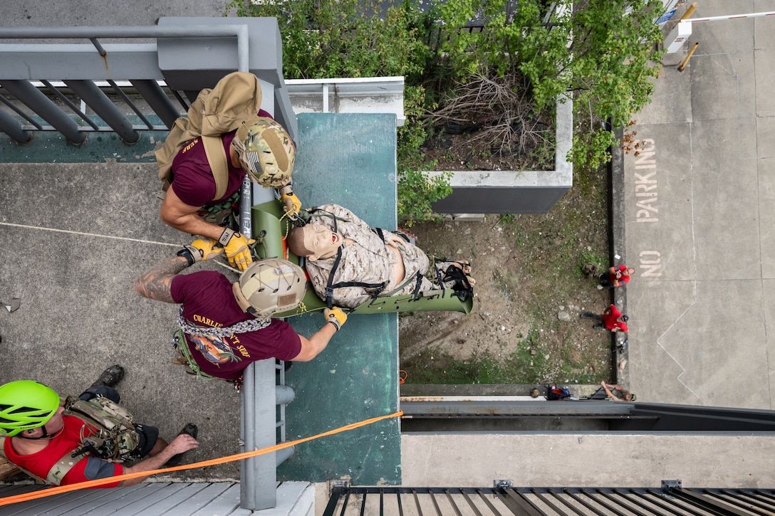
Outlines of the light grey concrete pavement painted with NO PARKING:
[[[693,18],[772,2],[701,2]],[[624,157],[629,382],[643,400],[772,409],[775,19],[694,23]],[[669,65],[667,65],[669,64]]]

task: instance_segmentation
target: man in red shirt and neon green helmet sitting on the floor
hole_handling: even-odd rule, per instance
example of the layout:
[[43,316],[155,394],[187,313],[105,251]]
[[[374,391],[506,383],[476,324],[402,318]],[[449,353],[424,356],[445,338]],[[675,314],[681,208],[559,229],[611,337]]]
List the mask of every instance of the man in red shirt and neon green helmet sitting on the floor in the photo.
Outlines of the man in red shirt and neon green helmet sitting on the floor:
[[[158,470],[164,464],[179,461],[183,452],[198,448],[197,427],[191,423],[169,444],[159,437],[157,428],[127,423],[129,426],[119,428],[122,433],[111,434],[112,445],[98,445],[99,438],[116,427],[108,429],[104,426],[98,433],[95,428],[98,417],[93,417],[95,407],[97,411],[101,406],[116,407],[110,404],[120,401],[115,386],[123,375],[122,366],[108,367],[81,396],[67,398],[64,406],[57,392],[33,380],[16,380],[0,386],[0,455],[30,476],[50,485],[64,486]],[[91,419],[79,410],[84,404],[91,407]],[[109,413],[113,414],[115,410],[111,409]],[[131,444],[123,448],[126,443]],[[129,449],[133,445],[135,447]],[[125,459],[143,457],[147,458],[134,466],[121,464]],[[105,483],[99,487],[133,486],[147,477]]]

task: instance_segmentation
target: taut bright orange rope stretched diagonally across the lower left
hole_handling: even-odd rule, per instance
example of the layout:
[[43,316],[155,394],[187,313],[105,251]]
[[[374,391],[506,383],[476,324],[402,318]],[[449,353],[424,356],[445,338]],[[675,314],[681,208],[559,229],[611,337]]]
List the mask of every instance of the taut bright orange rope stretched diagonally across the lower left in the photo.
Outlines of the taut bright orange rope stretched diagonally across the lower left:
[[281,442],[278,445],[257,449],[252,452],[236,453],[234,455],[220,457],[219,459],[203,460],[202,462],[199,462],[199,463],[184,464],[182,466],[162,468],[160,470],[139,471],[137,473],[127,473],[125,475],[109,476],[108,478],[101,478],[98,480],[88,480],[86,482],[79,482],[79,483],[71,483],[67,486],[56,486],[56,487],[51,487],[50,489],[33,491],[31,493],[16,494],[12,497],[0,498],[0,506],[17,504],[22,501],[36,500],[38,498],[43,498],[43,497],[50,497],[53,494],[67,493],[74,490],[86,489],[88,487],[99,487],[99,486],[102,486],[102,484],[104,483],[114,483],[120,480],[139,478],[140,476],[151,476],[151,475],[156,475],[157,473],[170,473],[172,471],[193,470],[194,468],[215,466],[216,464],[231,463],[236,460],[250,459],[250,457],[256,457],[256,456],[263,455],[265,453],[276,452],[277,450],[289,448],[293,445],[301,444],[302,442],[308,442],[314,439],[320,439],[321,437],[325,437],[327,435],[334,435],[340,432],[347,432],[349,430],[354,430],[355,428],[359,428],[361,426],[371,425],[372,423],[376,423],[377,421],[382,421],[383,419],[400,418],[402,415],[404,415],[404,412],[398,411],[398,412],[394,412],[393,414],[383,415],[377,418],[364,419],[363,421],[359,421],[357,423],[350,423],[350,425],[340,426],[339,428],[334,428],[333,430],[329,430],[327,432],[322,432],[317,435],[312,435],[311,437],[303,437],[301,439],[296,439],[295,441]]

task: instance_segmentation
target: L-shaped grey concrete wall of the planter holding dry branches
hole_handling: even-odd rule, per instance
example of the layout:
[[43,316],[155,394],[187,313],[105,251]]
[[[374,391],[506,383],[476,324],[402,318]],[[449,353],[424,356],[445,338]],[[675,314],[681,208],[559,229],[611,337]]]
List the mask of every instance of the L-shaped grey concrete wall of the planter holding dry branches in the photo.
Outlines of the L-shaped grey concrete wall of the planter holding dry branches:
[[[573,101],[557,99],[555,170],[451,171],[449,197],[433,203],[439,213],[547,213],[573,186]],[[431,177],[445,174],[429,172]]]

